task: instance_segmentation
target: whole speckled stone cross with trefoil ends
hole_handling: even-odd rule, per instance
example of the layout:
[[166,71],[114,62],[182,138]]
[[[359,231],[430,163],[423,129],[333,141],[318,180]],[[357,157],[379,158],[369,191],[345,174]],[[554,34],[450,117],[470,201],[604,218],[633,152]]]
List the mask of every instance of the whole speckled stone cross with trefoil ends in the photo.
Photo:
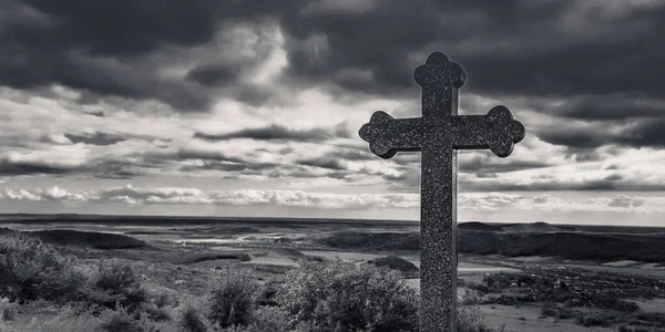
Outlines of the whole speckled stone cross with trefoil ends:
[[420,331],[457,331],[457,149],[489,148],[511,154],[524,126],[505,106],[485,115],[458,115],[458,90],[467,73],[441,52],[413,73],[422,87],[422,117],[371,115],[359,135],[388,159],[397,152],[421,152]]

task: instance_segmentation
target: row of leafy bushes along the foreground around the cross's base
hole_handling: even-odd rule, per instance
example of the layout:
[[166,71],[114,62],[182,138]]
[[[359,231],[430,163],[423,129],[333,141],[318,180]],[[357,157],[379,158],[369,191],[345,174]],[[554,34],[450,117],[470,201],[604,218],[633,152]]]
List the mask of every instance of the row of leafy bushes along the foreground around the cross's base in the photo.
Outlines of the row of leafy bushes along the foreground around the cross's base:
[[[387,267],[303,260],[283,281],[239,267],[216,272],[203,295],[149,289],[126,261],[66,257],[14,234],[0,243],[0,331],[418,330],[418,292]],[[462,305],[459,331],[491,330]]]

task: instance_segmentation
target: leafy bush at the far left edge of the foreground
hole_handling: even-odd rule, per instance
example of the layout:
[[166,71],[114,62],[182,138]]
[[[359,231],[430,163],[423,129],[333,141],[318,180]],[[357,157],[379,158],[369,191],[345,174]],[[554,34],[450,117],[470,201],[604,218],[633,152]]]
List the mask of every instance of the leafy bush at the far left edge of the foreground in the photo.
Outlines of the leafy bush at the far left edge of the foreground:
[[[39,239],[17,234],[0,247],[0,295],[12,300],[38,299],[65,303],[78,300],[85,276],[75,260],[58,253]],[[6,284],[7,283],[7,284]]]

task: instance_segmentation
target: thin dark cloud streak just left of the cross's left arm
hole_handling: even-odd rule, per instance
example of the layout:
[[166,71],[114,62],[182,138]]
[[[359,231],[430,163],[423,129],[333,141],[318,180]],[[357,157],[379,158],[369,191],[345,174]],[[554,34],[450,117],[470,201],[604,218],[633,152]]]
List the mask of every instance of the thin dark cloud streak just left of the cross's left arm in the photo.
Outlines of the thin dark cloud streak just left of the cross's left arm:
[[332,135],[325,129],[314,128],[307,131],[293,131],[279,125],[270,125],[259,128],[246,128],[237,132],[209,135],[195,133],[194,137],[206,141],[228,141],[234,138],[252,138],[256,141],[297,141],[297,142],[320,142],[331,138]]

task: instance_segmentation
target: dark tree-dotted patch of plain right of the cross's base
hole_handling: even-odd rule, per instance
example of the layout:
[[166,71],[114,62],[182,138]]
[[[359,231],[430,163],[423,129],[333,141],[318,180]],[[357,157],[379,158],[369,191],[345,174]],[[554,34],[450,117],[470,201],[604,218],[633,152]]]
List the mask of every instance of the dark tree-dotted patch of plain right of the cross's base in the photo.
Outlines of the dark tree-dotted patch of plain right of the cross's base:
[[665,331],[665,313],[644,312],[637,299],[665,298],[665,281],[576,268],[526,266],[523,272],[487,274],[464,283],[481,304],[540,305],[541,318],[618,331]]

